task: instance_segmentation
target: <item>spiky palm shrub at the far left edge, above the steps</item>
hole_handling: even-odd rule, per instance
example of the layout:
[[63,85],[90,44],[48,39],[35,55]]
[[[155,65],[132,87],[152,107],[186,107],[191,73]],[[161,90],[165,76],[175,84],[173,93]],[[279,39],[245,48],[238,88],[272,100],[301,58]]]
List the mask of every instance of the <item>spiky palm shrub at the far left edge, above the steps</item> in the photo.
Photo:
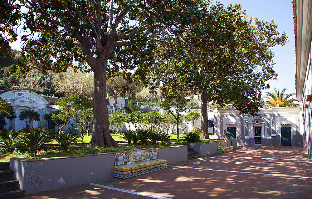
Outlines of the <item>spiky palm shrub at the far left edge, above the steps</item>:
[[20,135],[16,131],[2,130],[0,132],[0,148],[12,153],[14,149],[21,145]]

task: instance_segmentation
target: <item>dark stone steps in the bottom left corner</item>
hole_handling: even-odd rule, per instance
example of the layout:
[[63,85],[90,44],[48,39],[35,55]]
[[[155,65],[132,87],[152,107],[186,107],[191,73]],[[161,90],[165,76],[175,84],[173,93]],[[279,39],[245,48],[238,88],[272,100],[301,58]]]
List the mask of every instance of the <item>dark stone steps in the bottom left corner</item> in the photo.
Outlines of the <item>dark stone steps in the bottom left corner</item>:
[[24,190],[18,188],[18,180],[13,178],[14,171],[9,169],[10,162],[0,161],[0,198],[19,198]]

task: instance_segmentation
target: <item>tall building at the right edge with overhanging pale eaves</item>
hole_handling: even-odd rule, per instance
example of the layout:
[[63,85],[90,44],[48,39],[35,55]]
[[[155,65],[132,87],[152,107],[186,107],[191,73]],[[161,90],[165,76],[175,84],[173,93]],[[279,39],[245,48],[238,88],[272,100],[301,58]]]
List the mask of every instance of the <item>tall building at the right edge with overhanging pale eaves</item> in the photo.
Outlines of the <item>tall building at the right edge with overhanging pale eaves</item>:
[[304,146],[312,158],[312,1],[293,0],[296,48],[296,98],[303,116]]

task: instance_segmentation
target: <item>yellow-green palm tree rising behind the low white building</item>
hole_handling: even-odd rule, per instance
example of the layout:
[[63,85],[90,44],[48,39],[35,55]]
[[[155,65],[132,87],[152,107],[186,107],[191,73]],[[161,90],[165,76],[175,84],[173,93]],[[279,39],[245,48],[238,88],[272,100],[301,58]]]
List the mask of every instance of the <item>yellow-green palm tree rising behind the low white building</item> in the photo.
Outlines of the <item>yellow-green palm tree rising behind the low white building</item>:
[[286,88],[284,87],[283,90],[280,89],[274,91],[266,92],[266,96],[263,97],[264,103],[271,107],[289,107],[291,105],[296,105],[294,102],[298,101],[296,99],[289,99],[291,96],[295,95],[295,93],[285,94]]

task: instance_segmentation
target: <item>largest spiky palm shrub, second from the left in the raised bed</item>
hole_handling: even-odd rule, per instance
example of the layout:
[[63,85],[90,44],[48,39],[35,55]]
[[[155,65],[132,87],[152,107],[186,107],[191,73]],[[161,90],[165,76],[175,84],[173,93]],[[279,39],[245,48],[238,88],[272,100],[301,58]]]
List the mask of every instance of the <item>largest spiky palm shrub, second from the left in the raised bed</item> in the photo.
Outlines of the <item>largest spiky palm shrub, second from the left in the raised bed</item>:
[[32,155],[36,156],[37,151],[45,148],[46,144],[53,139],[53,130],[41,128],[22,129],[21,143],[25,145]]

